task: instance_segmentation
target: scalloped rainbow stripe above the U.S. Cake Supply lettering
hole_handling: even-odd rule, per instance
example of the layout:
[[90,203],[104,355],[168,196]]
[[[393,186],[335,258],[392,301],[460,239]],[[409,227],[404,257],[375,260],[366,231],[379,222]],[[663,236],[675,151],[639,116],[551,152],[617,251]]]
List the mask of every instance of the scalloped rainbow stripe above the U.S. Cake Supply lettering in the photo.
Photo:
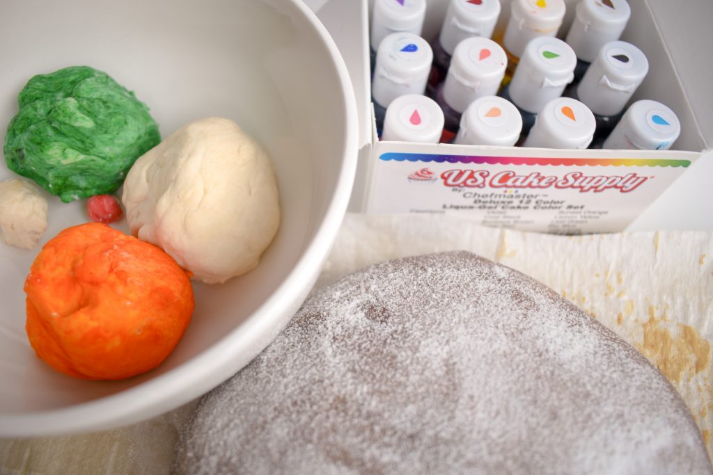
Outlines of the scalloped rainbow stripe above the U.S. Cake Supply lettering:
[[485,157],[482,155],[436,155],[431,153],[386,152],[379,160],[388,162],[475,163],[477,165],[562,165],[564,167],[689,167],[690,160],[652,158],[555,158],[555,157]]

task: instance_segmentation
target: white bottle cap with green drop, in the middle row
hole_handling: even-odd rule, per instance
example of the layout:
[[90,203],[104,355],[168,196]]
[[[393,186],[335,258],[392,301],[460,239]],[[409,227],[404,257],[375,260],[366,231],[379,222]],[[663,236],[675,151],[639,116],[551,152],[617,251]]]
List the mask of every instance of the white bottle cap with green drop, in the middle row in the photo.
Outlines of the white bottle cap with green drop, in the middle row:
[[564,41],[548,36],[533,39],[508,86],[511,100],[522,110],[539,113],[572,82],[575,66],[575,52]]

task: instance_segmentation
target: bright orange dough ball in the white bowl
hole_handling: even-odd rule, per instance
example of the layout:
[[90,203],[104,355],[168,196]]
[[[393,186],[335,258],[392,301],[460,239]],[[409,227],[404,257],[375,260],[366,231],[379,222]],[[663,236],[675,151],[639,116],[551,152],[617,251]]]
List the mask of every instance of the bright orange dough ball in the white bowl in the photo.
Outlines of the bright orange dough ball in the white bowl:
[[153,244],[106,224],[61,231],[25,281],[26,330],[54,369],[119,380],[159,365],[190,322],[188,274]]

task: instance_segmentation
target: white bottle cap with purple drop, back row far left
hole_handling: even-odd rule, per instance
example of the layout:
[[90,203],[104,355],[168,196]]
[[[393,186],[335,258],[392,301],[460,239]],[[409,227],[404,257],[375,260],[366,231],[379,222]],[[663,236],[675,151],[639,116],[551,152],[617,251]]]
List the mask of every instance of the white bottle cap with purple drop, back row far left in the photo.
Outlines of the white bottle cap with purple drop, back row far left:
[[391,33],[407,31],[421,35],[426,17],[426,0],[374,0],[371,14],[371,49]]

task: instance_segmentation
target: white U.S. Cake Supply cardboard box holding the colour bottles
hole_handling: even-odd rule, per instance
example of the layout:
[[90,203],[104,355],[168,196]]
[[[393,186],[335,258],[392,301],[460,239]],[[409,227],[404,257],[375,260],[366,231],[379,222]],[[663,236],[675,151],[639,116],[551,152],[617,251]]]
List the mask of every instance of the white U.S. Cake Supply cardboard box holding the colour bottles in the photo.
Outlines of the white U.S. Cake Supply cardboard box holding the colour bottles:
[[[705,48],[695,47],[713,44],[703,21],[713,14],[710,2],[629,0],[631,17],[621,39],[640,48],[650,65],[631,102],[657,100],[681,122],[678,140],[665,151],[381,142],[369,90],[371,2],[317,3],[318,16],[347,63],[359,106],[361,150],[352,211],[467,214],[483,225],[558,234],[713,230],[707,184],[713,178],[713,70],[697,56]],[[427,1],[422,33],[427,41],[438,35],[447,4]],[[560,38],[576,0],[566,4]],[[502,36],[509,14],[510,1],[501,0],[493,38]]]

